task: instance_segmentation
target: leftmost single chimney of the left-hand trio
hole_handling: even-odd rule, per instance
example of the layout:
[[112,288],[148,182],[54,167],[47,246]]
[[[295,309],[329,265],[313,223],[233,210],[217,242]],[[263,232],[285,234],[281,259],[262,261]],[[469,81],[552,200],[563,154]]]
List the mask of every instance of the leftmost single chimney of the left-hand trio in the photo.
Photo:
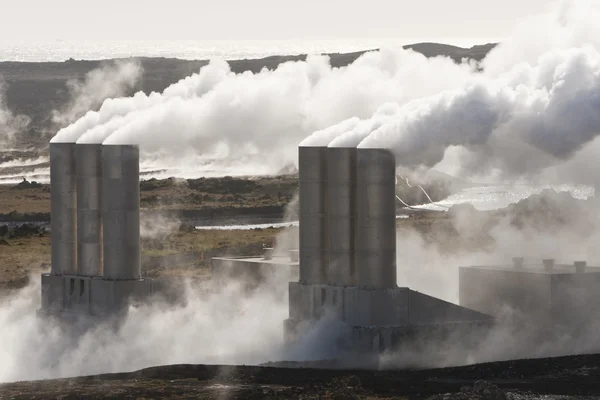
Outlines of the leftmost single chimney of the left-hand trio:
[[52,275],[77,273],[75,143],[50,143]]

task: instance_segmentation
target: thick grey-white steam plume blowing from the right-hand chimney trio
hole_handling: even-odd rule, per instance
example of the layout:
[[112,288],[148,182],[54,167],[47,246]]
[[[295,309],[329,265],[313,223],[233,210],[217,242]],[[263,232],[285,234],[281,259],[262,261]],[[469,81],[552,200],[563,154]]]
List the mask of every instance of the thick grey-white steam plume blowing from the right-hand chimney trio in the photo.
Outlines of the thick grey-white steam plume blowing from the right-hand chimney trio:
[[401,165],[431,167],[448,147],[463,146],[480,154],[480,168],[523,175],[572,157],[598,134],[600,53],[586,47],[411,102],[360,147],[389,148]]

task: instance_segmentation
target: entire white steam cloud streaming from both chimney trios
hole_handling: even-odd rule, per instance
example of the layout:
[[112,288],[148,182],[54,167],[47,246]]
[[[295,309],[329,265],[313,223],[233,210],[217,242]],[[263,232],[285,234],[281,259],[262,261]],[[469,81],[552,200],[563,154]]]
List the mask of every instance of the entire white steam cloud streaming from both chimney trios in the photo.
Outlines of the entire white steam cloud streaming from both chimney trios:
[[159,169],[201,157],[248,174],[295,164],[305,138],[343,135],[331,145],[364,139],[405,166],[432,167],[460,148],[464,170],[531,175],[572,159],[600,132],[599,10],[596,1],[561,2],[519,24],[480,65],[403,49],[343,68],[313,56],[258,74],[213,60],[161,94],[108,99],[53,140],[139,144],[142,162],[160,160]]

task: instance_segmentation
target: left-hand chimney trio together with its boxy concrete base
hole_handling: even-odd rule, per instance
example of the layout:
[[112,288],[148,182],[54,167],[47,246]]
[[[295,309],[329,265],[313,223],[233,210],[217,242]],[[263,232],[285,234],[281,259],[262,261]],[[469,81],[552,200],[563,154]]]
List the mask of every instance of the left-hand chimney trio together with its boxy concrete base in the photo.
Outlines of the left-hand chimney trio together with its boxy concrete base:
[[50,143],[52,267],[40,315],[110,316],[153,293],[140,267],[139,150]]

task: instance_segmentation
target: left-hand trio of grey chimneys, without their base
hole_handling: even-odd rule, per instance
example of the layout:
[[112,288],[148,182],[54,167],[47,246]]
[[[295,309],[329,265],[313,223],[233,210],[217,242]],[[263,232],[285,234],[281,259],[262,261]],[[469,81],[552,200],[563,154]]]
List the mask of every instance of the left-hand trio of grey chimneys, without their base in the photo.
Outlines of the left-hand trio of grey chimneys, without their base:
[[139,150],[50,144],[51,275],[139,279]]

